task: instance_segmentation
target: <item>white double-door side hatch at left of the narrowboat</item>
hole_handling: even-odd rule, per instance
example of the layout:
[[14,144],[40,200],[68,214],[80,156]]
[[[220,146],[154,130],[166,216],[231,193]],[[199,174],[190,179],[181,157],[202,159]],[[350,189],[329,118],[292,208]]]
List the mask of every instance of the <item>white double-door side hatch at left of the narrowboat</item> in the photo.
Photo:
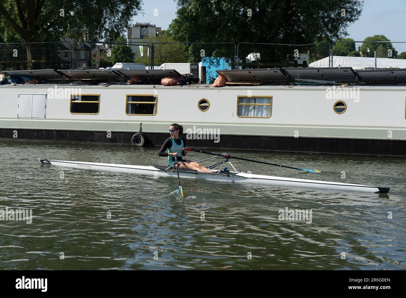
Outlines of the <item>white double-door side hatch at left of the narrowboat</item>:
[[45,119],[46,94],[18,94],[17,118]]

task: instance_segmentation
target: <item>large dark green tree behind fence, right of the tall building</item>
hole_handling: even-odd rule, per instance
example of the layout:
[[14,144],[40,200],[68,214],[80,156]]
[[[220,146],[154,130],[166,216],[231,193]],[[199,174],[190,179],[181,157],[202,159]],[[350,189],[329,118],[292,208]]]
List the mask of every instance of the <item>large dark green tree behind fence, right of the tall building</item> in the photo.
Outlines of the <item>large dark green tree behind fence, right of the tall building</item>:
[[[302,45],[316,40],[337,40],[348,35],[348,26],[361,15],[363,1],[177,0],[177,5],[177,18],[169,25],[176,41]],[[344,14],[342,9],[345,9]],[[286,47],[257,45],[241,48],[244,49],[239,48],[238,56],[242,62],[251,53],[259,53],[261,65],[276,63],[276,60],[292,61],[295,49],[292,47],[290,52]],[[227,54],[229,50],[225,46],[218,46],[218,51],[233,56]],[[309,60],[326,56],[317,52],[317,47],[308,51]],[[271,61],[270,55],[277,59]]]

